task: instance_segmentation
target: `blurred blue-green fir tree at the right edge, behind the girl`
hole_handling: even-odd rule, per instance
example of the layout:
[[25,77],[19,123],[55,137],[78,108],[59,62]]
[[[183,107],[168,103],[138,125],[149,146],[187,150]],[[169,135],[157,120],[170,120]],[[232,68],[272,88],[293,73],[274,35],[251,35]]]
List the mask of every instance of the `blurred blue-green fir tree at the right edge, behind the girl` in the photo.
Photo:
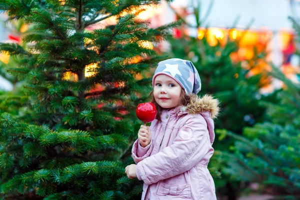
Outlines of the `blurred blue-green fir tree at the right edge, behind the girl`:
[[[294,22],[299,35],[300,26]],[[227,168],[234,179],[260,183],[261,192],[269,192],[275,199],[300,198],[300,87],[288,79],[278,67],[272,66],[274,78],[284,83],[276,92],[278,103],[261,101],[268,120],[245,127],[242,135],[217,130],[236,139],[232,150],[224,153]]]

